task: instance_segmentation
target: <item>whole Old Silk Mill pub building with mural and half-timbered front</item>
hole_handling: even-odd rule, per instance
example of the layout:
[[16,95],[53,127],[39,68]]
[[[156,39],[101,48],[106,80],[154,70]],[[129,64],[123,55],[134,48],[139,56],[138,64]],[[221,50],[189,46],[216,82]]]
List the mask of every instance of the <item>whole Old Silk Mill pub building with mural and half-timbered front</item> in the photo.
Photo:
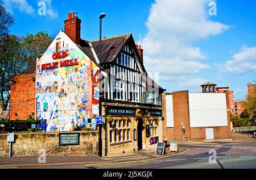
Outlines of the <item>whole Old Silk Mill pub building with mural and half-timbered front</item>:
[[[137,152],[155,149],[166,139],[166,121],[162,118],[164,89],[147,74],[143,65],[143,49],[131,34],[102,39],[102,78],[98,68],[100,40],[80,38],[81,20],[72,12],[64,20],[65,31],[49,45],[47,51],[23,74],[13,78],[10,119],[32,112],[47,122],[46,131],[74,131],[88,127],[98,130],[99,95],[102,94],[102,154]],[[27,76],[24,76],[27,75]],[[18,84],[20,77],[26,84]],[[102,81],[100,82],[100,79]],[[99,90],[101,85],[102,93]],[[30,95],[16,102],[20,86]],[[31,93],[34,99],[31,100]],[[19,106],[26,102],[26,114]]]

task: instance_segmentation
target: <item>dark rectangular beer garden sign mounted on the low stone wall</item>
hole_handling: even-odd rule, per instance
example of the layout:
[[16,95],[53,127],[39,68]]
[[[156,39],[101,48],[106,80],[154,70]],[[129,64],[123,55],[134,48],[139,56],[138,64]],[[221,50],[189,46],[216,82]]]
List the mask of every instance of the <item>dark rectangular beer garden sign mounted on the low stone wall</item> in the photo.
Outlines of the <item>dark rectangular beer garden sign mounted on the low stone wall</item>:
[[79,145],[80,133],[60,133],[59,145]]

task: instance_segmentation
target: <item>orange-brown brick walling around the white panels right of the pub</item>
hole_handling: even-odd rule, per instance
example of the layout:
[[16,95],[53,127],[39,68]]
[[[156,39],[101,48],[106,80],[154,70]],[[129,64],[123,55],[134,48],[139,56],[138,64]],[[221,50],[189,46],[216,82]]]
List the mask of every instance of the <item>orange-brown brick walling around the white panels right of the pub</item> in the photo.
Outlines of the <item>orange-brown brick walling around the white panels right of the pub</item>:
[[[226,107],[229,109],[229,92],[226,91]],[[163,117],[166,119],[166,94],[162,96],[163,99]],[[177,91],[172,93],[174,103],[174,128],[167,128],[167,139],[169,141],[182,141],[183,133],[181,131],[181,122],[185,125],[185,140],[205,140],[205,128],[197,127],[191,128],[189,122],[189,99],[188,91]],[[209,127],[213,128],[214,139],[231,139],[230,114],[228,116],[228,125],[224,127]]]

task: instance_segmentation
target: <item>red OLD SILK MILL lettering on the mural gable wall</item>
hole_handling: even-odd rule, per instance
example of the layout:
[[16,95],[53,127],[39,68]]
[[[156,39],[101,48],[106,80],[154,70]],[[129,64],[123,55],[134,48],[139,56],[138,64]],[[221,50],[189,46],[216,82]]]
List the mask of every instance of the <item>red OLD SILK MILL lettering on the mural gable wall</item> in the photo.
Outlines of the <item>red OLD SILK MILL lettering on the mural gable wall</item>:
[[[56,59],[60,59],[60,58],[65,58],[67,57],[67,52],[62,52],[62,53],[54,53],[52,55],[53,60]],[[72,59],[72,60],[63,60],[60,62],[52,62],[52,63],[47,63],[47,64],[42,64],[41,65],[41,69],[42,70],[46,70],[46,69],[55,69],[58,68],[60,66],[60,68],[62,67],[66,67],[66,66],[75,66],[75,65],[79,65],[79,62],[77,61],[77,59]]]

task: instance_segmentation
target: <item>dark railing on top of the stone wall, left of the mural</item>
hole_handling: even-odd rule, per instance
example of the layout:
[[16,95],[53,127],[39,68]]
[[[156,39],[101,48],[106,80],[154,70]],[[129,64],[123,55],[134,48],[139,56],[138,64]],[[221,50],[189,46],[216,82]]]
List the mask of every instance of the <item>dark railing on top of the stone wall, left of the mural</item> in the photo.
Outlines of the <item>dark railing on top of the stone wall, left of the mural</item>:
[[20,132],[20,131],[46,131],[46,120],[39,120],[38,123],[27,122],[26,120],[13,120],[10,122],[0,122],[0,131]]

